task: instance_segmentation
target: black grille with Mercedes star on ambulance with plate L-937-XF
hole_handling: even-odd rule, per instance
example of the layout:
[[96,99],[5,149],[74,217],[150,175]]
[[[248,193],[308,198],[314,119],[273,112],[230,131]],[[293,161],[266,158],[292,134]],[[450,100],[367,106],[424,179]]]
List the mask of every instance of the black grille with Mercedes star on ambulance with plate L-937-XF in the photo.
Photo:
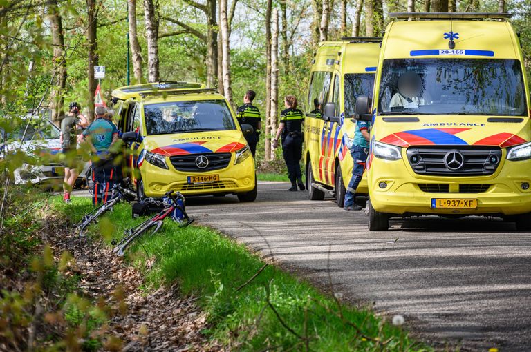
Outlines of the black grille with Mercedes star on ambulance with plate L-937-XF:
[[414,146],[407,159],[415,173],[434,176],[485,176],[496,172],[501,149],[492,146]]

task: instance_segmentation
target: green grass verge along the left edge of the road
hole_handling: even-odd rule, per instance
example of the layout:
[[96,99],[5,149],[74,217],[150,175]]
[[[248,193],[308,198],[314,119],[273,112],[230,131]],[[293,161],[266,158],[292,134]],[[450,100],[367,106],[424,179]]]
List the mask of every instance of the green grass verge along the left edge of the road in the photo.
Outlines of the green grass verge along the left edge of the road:
[[[91,208],[90,199],[74,198],[70,206],[57,199],[55,208],[76,221]],[[140,221],[131,219],[129,205],[120,204],[93,231],[110,242]],[[167,220],[159,233],[142,237],[129,248],[131,264],[141,270],[153,258],[151,271],[144,270],[148,288],[179,282],[184,295],[201,296],[198,304],[210,322],[205,334],[230,349],[302,350],[307,342],[313,351],[431,350],[373,311],[339,305],[272,265],[236,291],[264,262],[210,228],[179,228]]]

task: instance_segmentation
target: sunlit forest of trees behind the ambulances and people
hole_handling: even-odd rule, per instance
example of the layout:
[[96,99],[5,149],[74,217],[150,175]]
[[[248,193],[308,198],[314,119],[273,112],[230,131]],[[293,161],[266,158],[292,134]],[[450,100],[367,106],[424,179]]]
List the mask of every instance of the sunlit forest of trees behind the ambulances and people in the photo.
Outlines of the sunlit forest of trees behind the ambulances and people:
[[48,107],[57,122],[78,101],[92,116],[95,65],[106,67],[105,99],[128,82],[198,81],[236,108],[252,89],[265,126],[257,159],[268,160],[282,97],[308,109],[319,41],[380,36],[391,12],[510,12],[529,72],[530,9],[531,0],[0,0],[0,115]]

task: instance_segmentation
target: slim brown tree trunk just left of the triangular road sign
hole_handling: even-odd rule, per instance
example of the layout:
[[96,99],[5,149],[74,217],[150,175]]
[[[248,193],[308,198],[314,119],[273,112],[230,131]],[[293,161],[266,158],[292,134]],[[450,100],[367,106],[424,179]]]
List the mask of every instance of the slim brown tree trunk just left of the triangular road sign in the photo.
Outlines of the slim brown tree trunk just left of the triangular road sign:
[[96,93],[96,79],[94,78],[94,66],[97,65],[97,10],[96,0],[86,0],[86,41],[88,43],[88,121],[94,119],[94,95]]

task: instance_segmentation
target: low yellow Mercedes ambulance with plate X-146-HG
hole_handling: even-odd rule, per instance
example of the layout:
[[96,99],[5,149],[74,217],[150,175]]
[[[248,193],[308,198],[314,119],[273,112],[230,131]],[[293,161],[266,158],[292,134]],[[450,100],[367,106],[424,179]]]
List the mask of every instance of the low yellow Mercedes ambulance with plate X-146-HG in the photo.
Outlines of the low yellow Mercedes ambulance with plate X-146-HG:
[[160,82],[113,91],[119,101],[127,169],[138,197],[235,194],[257,197],[254,159],[222,95],[201,84]]

